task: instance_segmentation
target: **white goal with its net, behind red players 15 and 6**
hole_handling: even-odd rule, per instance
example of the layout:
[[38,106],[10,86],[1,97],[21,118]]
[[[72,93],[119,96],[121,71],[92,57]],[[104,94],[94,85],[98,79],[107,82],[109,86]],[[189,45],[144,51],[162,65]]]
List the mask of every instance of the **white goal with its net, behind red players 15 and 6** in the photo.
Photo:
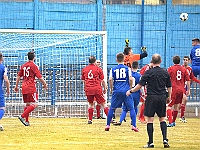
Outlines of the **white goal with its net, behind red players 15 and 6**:
[[[18,30],[0,29],[0,52],[8,68],[11,93],[5,95],[5,116],[23,112],[21,91],[15,93],[15,81],[20,66],[34,50],[36,65],[48,84],[44,90],[37,82],[39,106],[35,117],[87,117],[88,103],[81,81],[81,70],[91,55],[101,60],[107,79],[107,33],[105,31]],[[21,85],[20,85],[21,86]],[[5,87],[5,86],[4,86]],[[21,90],[21,89],[20,89]]]

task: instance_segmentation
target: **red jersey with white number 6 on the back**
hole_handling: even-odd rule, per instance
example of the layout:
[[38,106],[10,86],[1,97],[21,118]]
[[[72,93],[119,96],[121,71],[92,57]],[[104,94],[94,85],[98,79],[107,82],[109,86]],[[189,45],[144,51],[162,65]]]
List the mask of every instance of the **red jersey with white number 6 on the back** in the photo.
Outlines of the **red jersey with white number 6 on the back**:
[[104,75],[100,67],[89,64],[82,69],[81,79],[85,81],[86,95],[102,94],[101,82],[104,79]]

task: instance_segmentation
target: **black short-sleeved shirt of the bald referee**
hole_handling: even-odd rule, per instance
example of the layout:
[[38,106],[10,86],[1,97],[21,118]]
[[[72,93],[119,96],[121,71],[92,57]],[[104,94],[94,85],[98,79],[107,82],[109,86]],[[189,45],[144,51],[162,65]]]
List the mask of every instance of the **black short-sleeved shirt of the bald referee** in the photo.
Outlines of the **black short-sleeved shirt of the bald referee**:
[[171,80],[165,69],[154,67],[144,73],[139,84],[147,85],[148,95],[162,95],[166,94],[166,87],[171,87]]

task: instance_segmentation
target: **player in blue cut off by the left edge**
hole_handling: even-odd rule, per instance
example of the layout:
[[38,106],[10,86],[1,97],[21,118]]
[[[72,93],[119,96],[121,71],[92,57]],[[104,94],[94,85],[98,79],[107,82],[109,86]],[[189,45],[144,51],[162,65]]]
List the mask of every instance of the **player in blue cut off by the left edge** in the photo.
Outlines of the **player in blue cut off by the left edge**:
[[[3,81],[6,83],[6,93],[10,94],[10,82],[7,75],[7,68],[2,64],[3,54],[0,53],[0,120],[4,116],[5,112],[5,99],[4,99],[4,90],[3,90]],[[3,126],[0,125],[0,131],[3,131]]]

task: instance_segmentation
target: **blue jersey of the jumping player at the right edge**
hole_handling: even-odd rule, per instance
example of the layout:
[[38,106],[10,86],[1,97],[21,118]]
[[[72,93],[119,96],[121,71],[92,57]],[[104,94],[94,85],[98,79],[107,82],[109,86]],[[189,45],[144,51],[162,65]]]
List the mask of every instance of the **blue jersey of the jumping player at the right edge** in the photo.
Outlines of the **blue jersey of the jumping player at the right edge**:
[[200,66],[200,45],[193,47],[190,53],[190,58],[192,60],[192,66]]

